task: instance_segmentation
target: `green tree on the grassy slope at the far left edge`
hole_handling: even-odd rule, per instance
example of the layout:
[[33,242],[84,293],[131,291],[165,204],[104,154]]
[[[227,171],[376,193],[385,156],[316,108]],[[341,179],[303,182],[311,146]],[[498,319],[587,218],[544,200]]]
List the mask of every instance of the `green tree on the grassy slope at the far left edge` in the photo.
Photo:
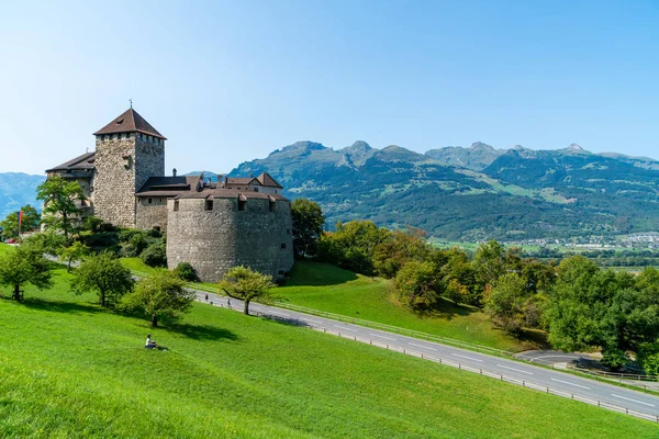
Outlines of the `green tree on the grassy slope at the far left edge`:
[[53,285],[48,261],[30,247],[18,247],[0,258],[0,284],[13,288],[13,299],[21,300],[21,288],[31,283],[40,290]]

